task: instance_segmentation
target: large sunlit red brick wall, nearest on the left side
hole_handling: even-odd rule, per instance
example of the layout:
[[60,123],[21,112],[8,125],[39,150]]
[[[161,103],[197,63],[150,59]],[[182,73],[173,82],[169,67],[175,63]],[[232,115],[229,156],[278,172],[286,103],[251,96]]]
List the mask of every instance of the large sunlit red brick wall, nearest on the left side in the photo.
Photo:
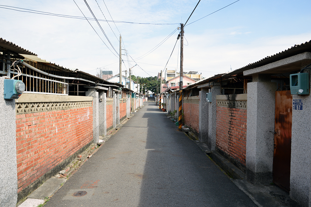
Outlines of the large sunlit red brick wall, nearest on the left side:
[[16,115],[18,192],[93,139],[92,107]]

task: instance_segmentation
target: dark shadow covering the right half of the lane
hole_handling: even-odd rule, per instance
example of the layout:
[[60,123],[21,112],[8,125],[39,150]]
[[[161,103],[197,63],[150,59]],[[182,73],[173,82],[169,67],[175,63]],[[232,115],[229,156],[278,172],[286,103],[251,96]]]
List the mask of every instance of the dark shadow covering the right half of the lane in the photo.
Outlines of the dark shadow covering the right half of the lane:
[[146,108],[140,111],[148,153],[138,206],[256,206],[155,104]]

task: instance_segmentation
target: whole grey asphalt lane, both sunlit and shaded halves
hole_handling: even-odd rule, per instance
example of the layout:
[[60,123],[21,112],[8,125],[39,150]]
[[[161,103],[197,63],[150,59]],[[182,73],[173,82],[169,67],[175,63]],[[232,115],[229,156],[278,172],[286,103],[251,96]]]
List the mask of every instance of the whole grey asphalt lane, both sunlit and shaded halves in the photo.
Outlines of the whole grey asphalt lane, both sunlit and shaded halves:
[[45,207],[257,206],[155,102],[144,105]]

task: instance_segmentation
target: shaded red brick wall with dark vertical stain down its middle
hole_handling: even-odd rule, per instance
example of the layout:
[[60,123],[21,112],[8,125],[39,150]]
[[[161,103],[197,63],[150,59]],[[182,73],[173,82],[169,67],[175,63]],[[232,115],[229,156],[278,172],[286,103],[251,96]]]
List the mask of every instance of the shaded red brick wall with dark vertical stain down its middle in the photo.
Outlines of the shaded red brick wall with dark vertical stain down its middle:
[[246,109],[216,108],[216,147],[245,166]]

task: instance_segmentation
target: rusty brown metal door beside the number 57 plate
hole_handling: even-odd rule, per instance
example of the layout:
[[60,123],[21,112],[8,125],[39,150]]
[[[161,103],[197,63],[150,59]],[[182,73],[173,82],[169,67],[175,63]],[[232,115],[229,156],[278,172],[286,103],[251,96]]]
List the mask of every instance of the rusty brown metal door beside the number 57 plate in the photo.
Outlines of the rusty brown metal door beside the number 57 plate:
[[292,100],[290,91],[275,93],[273,182],[286,191],[290,190]]

